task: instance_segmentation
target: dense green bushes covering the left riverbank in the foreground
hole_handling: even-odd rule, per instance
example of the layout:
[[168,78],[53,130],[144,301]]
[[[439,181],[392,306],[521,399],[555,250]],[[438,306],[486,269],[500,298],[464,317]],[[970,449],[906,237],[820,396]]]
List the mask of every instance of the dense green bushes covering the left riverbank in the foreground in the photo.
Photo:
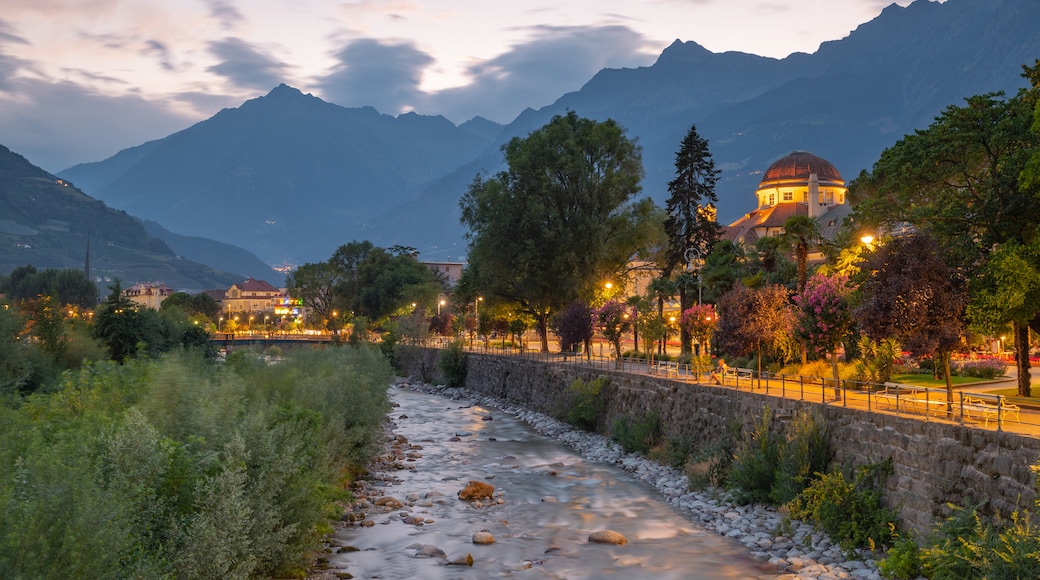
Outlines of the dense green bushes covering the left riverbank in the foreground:
[[0,404],[0,577],[300,573],[378,443],[374,349],[86,364]]

